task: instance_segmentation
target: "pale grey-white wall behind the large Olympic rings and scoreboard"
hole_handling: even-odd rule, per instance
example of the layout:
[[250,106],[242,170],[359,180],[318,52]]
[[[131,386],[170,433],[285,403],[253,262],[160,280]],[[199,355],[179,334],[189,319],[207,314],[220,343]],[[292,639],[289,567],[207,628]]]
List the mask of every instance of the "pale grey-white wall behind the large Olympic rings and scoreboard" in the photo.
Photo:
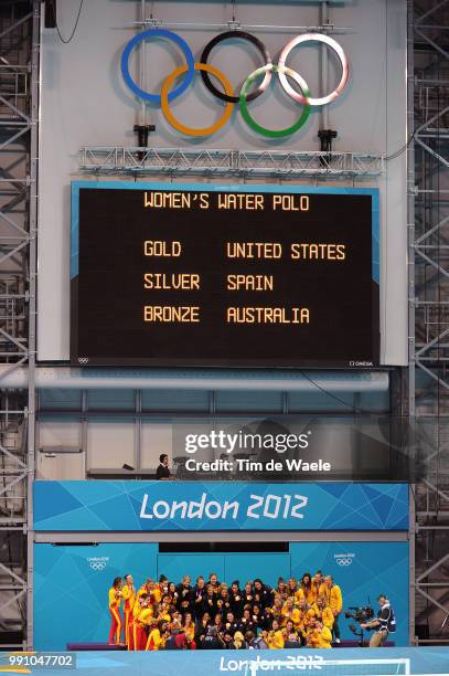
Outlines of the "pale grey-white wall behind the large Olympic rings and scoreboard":
[[[76,7],[75,7],[76,4]],[[154,15],[163,21],[223,23],[231,18],[231,3],[160,1]],[[237,19],[250,24],[314,25],[319,9],[314,3],[237,2]],[[78,4],[58,0],[58,23],[70,34]],[[41,360],[68,359],[68,261],[70,181],[77,178],[77,152],[82,146],[133,146],[132,126],[141,110],[126,88],[119,71],[125,44],[135,33],[140,1],[95,0],[85,2],[77,32],[70,44],[62,44],[56,31],[43,30],[41,151],[40,151],[40,240],[39,240],[39,326],[38,355]],[[149,11],[149,10],[148,10]],[[335,25],[352,27],[335,35],[351,60],[351,81],[343,95],[330,107],[330,127],[338,129],[338,150],[392,154],[406,141],[406,3],[403,0],[355,0],[331,9]],[[124,28],[128,27],[128,28]],[[195,57],[218,30],[173,29],[191,45]],[[254,30],[275,59],[297,30]],[[174,65],[182,63],[175,49],[148,44],[148,89],[160,84]],[[237,85],[259,61],[253,50],[224,44],[213,54],[213,63]],[[319,89],[319,53],[314,46],[296,50],[289,65]],[[331,60],[331,82],[336,68]],[[216,119],[217,103],[200,77],[194,86],[173,102],[172,110],[185,124],[205,126]],[[298,110],[276,86],[255,102],[252,112],[260,124],[290,125]],[[202,146],[206,148],[277,148],[318,150],[320,115],[314,113],[306,127],[284,141],[255,136],[240,115],[213,138],[185,139],[165,123],[160,109],[148,107],[157,125],[151,145],[157,147]],[[382,199],[382,357],[385,363],[406,363],[406,157],[387,166],[387,173],[372,183]],[[233,182],[234,179],[233,179]],[[300,181],[297,181],[300,182]],[[303,181],[302,181],[303,182]],[[340,181],[341,184],[341,181]]]

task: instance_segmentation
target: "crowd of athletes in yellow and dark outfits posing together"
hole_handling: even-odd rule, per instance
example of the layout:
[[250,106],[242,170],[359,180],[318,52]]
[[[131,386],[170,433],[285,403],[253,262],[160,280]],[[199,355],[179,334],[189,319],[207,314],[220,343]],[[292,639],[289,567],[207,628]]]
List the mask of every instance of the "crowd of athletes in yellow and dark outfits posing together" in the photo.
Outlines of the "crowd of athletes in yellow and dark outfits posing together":
[[215,573],[192,585],[161,575],[136,589],[131,574],[109,590],[109,644],[130,651],[329,648],[340,643],[342,592],[319,570],[301,580],[279,578],[276,588],[260,579],[240,587]]

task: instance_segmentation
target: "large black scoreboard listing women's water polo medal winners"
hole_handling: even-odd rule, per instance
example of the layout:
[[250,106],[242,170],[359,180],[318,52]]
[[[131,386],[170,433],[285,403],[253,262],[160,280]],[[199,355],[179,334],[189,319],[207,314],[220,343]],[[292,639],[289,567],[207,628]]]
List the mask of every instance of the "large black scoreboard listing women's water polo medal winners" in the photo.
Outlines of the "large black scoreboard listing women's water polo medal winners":
[[74,182],[71,362],[373,367],[378,193]]

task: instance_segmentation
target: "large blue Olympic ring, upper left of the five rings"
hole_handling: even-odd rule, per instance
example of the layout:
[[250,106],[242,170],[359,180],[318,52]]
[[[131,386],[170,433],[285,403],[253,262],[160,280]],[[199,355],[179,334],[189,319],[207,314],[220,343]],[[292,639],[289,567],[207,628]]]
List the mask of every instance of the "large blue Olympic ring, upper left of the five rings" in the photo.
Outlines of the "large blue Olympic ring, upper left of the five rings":
[[121,74],[124,76],[124,80],[128,87],[137,96],[140,96],[140,98],[143,98],[145,101],[151,101],[152,103],[161,103],[160,94],[149,94],[148,92],[141,89],[139,86],[137,86],[129,73],[129,57],[131,55],[131,52],[135,46],[139,44],[139,42],[141,42],[142,40],[147,40],[147,38],[167,38],[168,40],[172,40],[184,53],[185,61],[188,64],[188,71],[185,73],[184,80],[179,85],[179,87],[177,87],[175,89],[173,89],[173,92],[170,92],[169,94],[169,101],[173,101],[173,98],[177,98],[177,96],[180,96],[180,94],[185,92],[185,89],[192,82],[195,74],[195,60],[185,40],[183,40],[180,35],[177,35],[177,33],[173,33],[172,31],[167,31],[165,29],[157,28],[149,29],[148,31],[142,31],[141,33],[135,35],[132,40],[128,42],[124,50],[124,53],[121,54]]

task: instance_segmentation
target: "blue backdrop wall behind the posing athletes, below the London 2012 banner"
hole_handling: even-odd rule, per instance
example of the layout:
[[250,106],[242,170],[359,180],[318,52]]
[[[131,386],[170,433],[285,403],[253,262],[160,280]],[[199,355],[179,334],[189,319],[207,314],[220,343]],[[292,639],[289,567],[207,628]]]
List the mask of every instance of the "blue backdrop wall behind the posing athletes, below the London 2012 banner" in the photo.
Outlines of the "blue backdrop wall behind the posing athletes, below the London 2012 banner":
[[[274,585],[279,575],[301,577],[317,569],[332,574],[344,608],[375,606],[386,593],[397,615],[392,640],[408,643],[408,545],[406,542],[290,542],[287,552],[159,553],[154,543],[34,547],[34,647],[65,649],[67,643],[106,643],[109,630],[107,592],[117,575],[131,572],[136,585],[165,574],[178,582],[214,571],[231,583],[260,577]],[[351,621],[340,620],[343,638],[354,638]]]

